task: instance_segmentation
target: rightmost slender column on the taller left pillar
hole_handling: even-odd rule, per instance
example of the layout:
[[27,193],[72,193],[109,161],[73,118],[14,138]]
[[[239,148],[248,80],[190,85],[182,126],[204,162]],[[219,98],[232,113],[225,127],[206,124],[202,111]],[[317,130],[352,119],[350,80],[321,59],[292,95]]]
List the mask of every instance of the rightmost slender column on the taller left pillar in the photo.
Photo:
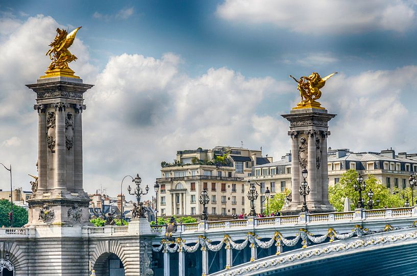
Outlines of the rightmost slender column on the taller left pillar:
[[81,114],[85,106],[74,106],[74,189],[83,190],[83,123]]

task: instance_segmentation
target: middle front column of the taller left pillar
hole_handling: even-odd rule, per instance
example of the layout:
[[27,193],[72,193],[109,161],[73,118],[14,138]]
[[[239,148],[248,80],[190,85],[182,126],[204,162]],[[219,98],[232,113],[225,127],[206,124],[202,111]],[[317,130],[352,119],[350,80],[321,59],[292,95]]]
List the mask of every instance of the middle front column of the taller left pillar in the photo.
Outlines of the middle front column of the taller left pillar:
[[65,104],[54,105],[56,111],[55,122],[55,185],[54,188],[65,189]]

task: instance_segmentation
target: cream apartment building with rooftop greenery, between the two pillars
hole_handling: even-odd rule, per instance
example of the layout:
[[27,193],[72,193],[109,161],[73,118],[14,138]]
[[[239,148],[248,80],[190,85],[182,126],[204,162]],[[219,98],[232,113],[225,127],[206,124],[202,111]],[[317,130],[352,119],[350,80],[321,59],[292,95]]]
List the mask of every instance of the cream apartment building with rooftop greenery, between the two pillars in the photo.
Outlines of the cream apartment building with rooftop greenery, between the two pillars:
[[248,192],[244,177],[252,167],[272,162],[261,150],[217,146],[180,150],[174,163],[161,163],[158,210],[162,216],[195,216],[203,212],[201,191],[207,190],[209,219],[230,218],[244,212]]

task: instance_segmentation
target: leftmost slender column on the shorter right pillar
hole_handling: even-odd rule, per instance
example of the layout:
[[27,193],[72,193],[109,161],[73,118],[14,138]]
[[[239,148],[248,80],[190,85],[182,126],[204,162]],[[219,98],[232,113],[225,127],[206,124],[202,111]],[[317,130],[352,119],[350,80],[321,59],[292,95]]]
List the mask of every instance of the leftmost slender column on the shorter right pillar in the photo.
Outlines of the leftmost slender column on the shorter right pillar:
[[300,202],[300,160],[298,156],[298,132],[290,131],[291,136],[291,196],[292,202],[298,204]]

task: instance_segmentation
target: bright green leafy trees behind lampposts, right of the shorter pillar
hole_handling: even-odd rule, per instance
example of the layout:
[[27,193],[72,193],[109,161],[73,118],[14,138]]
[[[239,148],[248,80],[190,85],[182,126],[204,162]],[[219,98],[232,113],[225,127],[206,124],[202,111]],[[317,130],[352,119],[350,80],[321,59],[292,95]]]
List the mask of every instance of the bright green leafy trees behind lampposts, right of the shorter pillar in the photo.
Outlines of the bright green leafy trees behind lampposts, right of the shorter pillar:
[[[338,183],[329,187],[329,201],[337,212],[344,210],[346,197],[348,197],[351,201],[351,210],[356,208],[359,199],[359,192],[355,191],[353,186],[354,184],[357,184],[357,176],[358,172],[350,169],[341,175]],[[365,200],[365,208],[367,208],[366,202],[369,199],[367,193],[370,189],[372,189],[374,193],[374,201],[379,199],[379,205],[374,208],[383,208],[385,206],[388,208],[397,208],[404,206],[405,199],[401,196],[401,194],[398,192],[394,192],[394,194],[391,193],[388,188],[382,185],[382,183],[374,177],[374,175],[368,175],[367,179],[364,179],[364,182],[366,183],[366,188],[362,191],[361,195]]]

